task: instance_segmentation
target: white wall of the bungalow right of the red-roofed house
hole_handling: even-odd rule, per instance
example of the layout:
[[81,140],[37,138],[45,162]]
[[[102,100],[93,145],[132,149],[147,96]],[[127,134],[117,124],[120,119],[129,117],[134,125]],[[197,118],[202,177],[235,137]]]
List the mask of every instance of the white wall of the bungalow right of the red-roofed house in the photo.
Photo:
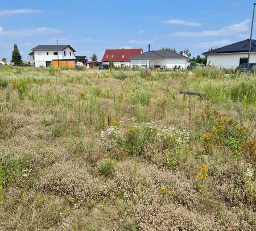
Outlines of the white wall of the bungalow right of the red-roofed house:
[[131,65],[147,65],[148,67],[153,67],[155,65],[160,65],[161,68],[166,66],[167,69],[174,69],[175,65],[180,66],[181,69],[186,69],[188,66],[187,58],[166,58],[163,60],[131,60]]

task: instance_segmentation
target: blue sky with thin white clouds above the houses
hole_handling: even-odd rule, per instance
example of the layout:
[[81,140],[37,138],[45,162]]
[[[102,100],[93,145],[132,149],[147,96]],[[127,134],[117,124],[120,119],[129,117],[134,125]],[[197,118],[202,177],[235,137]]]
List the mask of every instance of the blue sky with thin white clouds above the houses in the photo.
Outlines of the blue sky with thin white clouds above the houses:
[[[251,0],[2,1],[0,58],[17,44],[23,60],[39,44],[69,44],[100,60],[105,49],[188,48],[192,56],[250,37]],[[256,19],[255,19],[256,20]],[[256,26],[256,23],[255,23]],[[254,30],[256,33],[256,28]],[[254,35],[255,35],[254,33]],[[255,36],[254,36],[255,38]]]

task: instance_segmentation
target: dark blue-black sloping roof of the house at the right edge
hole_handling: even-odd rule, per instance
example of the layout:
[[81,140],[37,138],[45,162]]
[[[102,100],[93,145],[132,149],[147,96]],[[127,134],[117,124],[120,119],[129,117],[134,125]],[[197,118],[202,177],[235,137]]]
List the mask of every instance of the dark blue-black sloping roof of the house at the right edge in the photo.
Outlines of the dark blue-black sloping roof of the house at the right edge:
[[[222,53],[241,53],[249,52],[250,39],[239,41],[225,47],[217,48],[212,51],[204,52],[204,55],[208,54],[222,54]],[[256,40],[251,41],[251,52],[256,52]]]

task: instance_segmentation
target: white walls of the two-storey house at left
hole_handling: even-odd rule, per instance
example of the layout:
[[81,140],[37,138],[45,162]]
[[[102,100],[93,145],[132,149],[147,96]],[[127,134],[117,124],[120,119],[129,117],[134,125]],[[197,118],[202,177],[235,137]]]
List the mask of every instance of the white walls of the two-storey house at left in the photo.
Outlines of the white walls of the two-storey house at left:
[[[64,56],[64,51],[66,52],[66,55]],[[49,53],[47,55],[47,52]],[[35,57],[35,67],[40,68],[41,66],[46,67],[46,61],[52,61],[57,60],[57,55],[54,55],[53,53],[57,51],[34,51],[34,57]],[[69,54],[71,52],[71,56]],[[65,48],[63,51],[59,51],[59,59],[65,59],[65,60],[73,60],[75,59],[75,53],[69,48]]]

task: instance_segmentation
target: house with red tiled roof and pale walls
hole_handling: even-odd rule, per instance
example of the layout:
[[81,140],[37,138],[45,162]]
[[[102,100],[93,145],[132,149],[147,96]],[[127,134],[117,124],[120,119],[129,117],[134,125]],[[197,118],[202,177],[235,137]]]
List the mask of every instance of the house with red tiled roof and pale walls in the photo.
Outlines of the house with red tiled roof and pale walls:
[[139,49],[108,49],[102,57],[102,65],[109,65],[112,61],[115,68],[130,67],[130,57],[141,54],[143,51]]

